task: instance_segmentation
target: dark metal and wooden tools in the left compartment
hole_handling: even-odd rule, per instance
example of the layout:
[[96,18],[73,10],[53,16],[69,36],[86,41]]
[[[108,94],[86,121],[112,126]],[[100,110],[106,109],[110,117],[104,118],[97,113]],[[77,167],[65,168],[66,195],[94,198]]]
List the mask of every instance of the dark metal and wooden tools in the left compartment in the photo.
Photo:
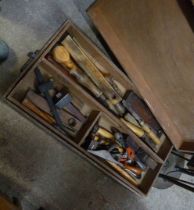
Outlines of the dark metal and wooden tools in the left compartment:
[[58,91],[52,79],[45,79],[39,68],[34,73],[35,91],[29,89],[22,104],[65,135],[75,136],[86,117],[73,104],[65,86]]

